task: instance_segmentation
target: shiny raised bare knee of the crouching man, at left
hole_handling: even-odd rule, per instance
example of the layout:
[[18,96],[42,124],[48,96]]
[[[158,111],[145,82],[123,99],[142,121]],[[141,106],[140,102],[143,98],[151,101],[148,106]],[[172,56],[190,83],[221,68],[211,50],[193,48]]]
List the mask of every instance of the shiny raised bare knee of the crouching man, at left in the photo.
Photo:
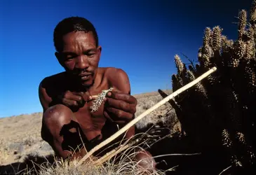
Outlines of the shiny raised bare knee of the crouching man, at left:
[[46,141],[48,137],[53,136],[55,131],[61,130],[62,126],[70,123],[72,111],[62,104],[51,106],[43,113],[41,137]]

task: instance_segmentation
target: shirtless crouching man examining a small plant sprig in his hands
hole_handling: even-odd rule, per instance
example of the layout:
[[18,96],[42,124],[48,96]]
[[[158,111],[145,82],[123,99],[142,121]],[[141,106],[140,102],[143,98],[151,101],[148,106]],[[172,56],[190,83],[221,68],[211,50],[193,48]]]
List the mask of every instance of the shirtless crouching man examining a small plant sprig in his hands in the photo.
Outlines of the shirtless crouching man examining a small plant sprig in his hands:
[[[95,27],[88,20],[65,18],[55,27],[53,37],[55,57],[65,71],[44,78],[39,85],[43,107],[41,137],[56,155],[79,158],[133,120],[137,101],[130,95],[125,71],[98,67],[102,48]],[[91,113],[93,95],[110,87],[114,90],[107,94],[100,109]],[[134,134],[133,126],[125,138]],[[81,151],[72,155],[72,151],[83,145],[86,150],[79,147]]]

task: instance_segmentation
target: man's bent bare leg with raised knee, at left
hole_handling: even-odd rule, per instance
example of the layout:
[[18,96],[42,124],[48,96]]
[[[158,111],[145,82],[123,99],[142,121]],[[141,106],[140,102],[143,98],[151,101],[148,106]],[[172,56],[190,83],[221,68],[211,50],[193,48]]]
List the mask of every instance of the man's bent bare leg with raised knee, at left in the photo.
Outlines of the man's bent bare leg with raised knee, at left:
[[[41,137],[50,144],[58,156],[67,158],[74,154],[74,151],[76,154],[72,155],[72,158],[85,155],[80,136],[84,140],[79,123],[67,106],[57,104],[43,113]],[[81,151],[77,151],[77,146],[82,148]]]

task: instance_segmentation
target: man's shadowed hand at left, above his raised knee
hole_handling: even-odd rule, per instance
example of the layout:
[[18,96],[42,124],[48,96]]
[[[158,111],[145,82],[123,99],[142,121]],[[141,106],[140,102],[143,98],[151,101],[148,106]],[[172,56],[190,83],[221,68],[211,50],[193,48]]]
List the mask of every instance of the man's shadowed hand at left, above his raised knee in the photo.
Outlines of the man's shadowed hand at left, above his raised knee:
[[65,106],[83,106],[87,101],[91,99],[87,92],[71,92],[67,90],[58,97],[60,102]]

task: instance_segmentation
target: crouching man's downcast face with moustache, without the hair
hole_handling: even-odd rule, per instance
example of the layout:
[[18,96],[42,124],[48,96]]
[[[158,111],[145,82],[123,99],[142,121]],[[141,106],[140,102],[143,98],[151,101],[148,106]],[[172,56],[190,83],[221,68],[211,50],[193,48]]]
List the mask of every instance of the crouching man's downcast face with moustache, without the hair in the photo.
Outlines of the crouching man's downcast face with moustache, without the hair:
[[56,52],[60,64],[77,83],[93,85],[100,61],[101,47],[96,46],[91,32],[76,31],[62,38],[62,50]]

